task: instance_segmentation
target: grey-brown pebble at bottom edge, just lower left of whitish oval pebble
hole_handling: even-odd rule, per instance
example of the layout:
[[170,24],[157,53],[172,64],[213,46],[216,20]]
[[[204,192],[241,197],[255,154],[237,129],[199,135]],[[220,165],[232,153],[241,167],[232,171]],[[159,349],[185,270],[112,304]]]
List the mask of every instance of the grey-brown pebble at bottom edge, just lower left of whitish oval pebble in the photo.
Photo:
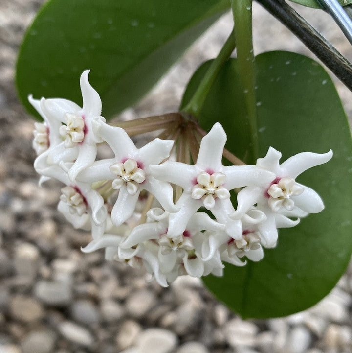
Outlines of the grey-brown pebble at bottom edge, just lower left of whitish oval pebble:
[[56,340],[52,330],[32,331],[22,340],[22,353],[51,353]]

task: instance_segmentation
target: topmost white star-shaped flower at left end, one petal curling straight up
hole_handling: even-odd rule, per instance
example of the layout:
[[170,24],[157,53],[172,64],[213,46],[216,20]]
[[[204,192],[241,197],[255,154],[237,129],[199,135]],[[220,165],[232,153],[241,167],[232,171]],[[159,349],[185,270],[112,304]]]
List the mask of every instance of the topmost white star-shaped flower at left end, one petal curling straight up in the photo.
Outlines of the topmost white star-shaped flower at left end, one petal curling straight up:
[[[89,70],[82,73],[80,85],[83,107],[60,98],[42,98],[40,101],[28,98],[44,119],[47,127],[48,149],[38,156],[34,167],[39,174],[47,176],[51,165],[73,162],[68,176],[74,182],[77,174],[91,165],[96,157],[96,144],[102,142],[95,132],[92,121],[104,121],[101,117],[101,99],[88,81]],[[41,129],[43,130],[43,129]],[[37,130],[38,131],[38,130]],[[35,145],[40,135],[36,134]],[[43,137],[44,139],[44,137]],[[41,137],[41,140],[43,140]]]

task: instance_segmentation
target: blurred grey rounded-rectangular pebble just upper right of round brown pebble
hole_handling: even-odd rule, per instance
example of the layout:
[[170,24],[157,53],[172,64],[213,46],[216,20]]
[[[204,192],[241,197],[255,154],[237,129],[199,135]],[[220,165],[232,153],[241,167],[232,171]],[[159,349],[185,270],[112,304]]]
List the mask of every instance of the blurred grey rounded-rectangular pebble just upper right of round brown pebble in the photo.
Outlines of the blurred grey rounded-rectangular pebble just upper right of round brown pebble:
[[37,282],[34,293],[38,299],[49,306],[66,306],[72,300],[72,289],[66,282]]

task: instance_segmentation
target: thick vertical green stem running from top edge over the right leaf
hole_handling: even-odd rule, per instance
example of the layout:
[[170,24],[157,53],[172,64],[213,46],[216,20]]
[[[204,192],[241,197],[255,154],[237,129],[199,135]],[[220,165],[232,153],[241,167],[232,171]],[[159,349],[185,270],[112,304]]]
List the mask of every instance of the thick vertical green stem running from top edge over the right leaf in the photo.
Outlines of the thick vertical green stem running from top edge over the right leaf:
[[[256,65],[252,40],[252,0],[231,0],[237,38],[237,59],[239,76],[245,94],[248,111],[248,123],[251,134],[253,160],[259,156],[257,98],[256,98]],[[253,162],[254,162],[253,161]]]

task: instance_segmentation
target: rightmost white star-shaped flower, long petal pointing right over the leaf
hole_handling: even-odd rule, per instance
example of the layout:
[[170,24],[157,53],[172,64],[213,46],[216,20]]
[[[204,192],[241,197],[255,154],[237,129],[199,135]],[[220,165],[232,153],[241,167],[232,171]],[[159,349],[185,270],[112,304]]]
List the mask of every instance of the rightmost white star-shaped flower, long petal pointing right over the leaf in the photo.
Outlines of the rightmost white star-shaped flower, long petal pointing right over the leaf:
[[305,170],[328,162],[331,157],[331,150],[322,154],[302,152],[280,165],[281,153],[270,147],[266,156],[257,160],[257,166],[275,173],[275,179],[262,187],[243,188],[237,196],[238,207],[234,218],[242,217],[252,205],[257,204],[257,208],[267,217],[258,224],[262,244],[274,247],[278,237],[277,228],[293,227],[299,218],[324,209],[320,196],[311,188],[297,183],[296,178]]

